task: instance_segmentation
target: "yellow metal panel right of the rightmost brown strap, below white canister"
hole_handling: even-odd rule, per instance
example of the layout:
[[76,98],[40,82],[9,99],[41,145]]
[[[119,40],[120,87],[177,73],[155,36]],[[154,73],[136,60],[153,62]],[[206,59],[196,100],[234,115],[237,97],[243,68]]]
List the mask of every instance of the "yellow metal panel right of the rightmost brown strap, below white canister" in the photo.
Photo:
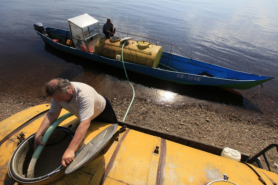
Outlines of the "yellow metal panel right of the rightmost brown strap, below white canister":
[[[236,184],[260,184],[252,169],[241,162],[167,141],[165,184],[206,184],[223,179]],[[268,179],[267,179],[268,180]],[[266,180],[266,181],[267,181]],[[269,180],[268,180],[269,181]]]

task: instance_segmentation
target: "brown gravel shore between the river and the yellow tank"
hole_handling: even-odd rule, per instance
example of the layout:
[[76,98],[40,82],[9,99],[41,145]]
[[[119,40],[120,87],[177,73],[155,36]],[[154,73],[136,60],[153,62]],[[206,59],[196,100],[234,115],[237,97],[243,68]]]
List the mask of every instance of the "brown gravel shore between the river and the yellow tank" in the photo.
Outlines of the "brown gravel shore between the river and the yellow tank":
[[[0,121],[35,105],[49,103],[49,98],[33,98],[30,93],[0,94]],[[124,119],[132,96],[110,98],[119,120]],[[242,116],[211,108],[207,103],[183,103],[178,106],[157,104],[135,97],[126,122],[209,144],[230,147],[251,157],[278,141],[278,123],[271,116]],[[278,174],[276,149],[267,153],[272,170]],[[263,161],[263,160],[262,160]],[[265,165],[264,165],[265,166]]]

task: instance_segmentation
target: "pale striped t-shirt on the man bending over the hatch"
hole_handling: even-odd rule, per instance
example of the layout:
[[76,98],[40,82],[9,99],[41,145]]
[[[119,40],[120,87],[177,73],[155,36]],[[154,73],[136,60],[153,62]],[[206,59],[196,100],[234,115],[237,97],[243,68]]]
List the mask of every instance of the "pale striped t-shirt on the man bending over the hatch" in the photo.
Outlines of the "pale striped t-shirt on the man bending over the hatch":
[[79,118],[80,122],[94,119],[105,108],[106,100],[95,89],[85,83],[70,82],[73,87],[73,97],[70,102],[51,99],[49,112],[61,111],[62,108]]

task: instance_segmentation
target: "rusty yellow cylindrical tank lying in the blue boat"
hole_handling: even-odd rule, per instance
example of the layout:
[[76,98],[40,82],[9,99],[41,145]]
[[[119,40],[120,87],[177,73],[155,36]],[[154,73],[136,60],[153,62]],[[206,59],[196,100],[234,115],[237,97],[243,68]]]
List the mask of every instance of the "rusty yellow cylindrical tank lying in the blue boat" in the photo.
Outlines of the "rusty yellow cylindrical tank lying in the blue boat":
[[[95,52],[103,57],[116,59],[121,56],[124,41],[120,37],[111,39],[102,37],[95,45]],[[147,41],[128,40],[123,48],[123,60],[139,65],[156,68],[162,55],[162,47],[151,44]]]

